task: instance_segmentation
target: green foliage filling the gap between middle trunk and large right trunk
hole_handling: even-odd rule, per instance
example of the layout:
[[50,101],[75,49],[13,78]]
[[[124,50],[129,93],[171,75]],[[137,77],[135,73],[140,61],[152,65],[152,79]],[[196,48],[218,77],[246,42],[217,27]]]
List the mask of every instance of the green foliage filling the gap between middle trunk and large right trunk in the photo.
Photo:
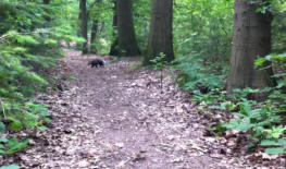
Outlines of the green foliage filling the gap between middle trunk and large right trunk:
[[226,0],[174,3],[177,84],[184,90],[195,89],[192,100],[200,101],[200,111],[235,107],[222,92],[231,56],[233,5]]

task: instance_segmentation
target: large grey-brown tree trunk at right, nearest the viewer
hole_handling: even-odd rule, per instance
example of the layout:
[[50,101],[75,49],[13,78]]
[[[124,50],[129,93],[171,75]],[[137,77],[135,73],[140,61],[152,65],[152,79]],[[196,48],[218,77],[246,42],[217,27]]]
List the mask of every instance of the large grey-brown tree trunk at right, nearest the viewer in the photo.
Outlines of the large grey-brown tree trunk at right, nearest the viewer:
[[[256,12],[258,4],[249,0],[235,0],[234,38],[227,93],[234,88],[264,88],[272,86],[270,71],[254,70],[253,62],[271,52],[272,15]],[[263,99],[266,94],[253,95]]]

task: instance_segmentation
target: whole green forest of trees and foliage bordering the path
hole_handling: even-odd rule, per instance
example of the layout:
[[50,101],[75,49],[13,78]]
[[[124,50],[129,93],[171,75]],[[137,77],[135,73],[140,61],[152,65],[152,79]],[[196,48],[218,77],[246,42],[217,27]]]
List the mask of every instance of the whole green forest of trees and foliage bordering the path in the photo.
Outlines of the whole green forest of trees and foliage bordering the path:
[[284,154],[285,16],[284,0],[1,0],[0,154],[28,144],[8,133],[52,122],[34,98],[59,90],[49,70],[62,48],[171,69],[198,111],[236,112],[210,133],[243,131],[250,149]]

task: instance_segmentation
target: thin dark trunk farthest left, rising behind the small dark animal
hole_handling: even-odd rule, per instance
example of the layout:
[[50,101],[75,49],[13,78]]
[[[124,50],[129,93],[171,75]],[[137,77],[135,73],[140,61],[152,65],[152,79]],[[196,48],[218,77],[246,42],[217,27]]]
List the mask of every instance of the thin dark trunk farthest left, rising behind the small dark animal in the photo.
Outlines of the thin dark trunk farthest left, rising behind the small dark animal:
[[80,0],[79,1],[79,9],[80,9],[80,34],[82,37],[86,39],[86,43],[83,44],[82,46],[82,51],[83,53],[87,53],[88,52],[88,48],[87,48],[87,41],[88,41],[88,37],[87,37],[87,23],[88,23],[88,16],[87,16],[87,10],[86,10],[86,0]]

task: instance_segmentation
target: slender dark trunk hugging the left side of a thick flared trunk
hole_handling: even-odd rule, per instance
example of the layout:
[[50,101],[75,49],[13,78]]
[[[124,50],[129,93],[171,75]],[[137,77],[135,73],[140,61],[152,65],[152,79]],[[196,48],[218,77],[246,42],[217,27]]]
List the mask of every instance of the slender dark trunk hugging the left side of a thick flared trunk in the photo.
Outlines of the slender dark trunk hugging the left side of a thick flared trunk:
[[114,2],[114,9],[113,9],[113,43],[110,48],[110,56],[119,56],[119,34],[117,34],[117,12],[116,12],[116,0]]

